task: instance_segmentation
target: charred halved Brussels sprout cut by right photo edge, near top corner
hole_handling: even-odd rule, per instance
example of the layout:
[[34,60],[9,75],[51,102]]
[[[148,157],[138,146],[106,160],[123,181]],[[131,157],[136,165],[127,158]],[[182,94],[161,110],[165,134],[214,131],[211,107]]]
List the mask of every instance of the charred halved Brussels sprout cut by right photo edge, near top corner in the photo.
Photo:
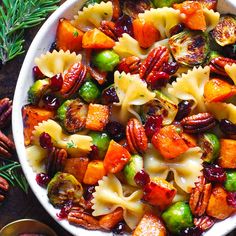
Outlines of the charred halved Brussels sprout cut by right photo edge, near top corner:
[[230,15],[220,17],[220,21],[212,31],[211,36],[220,46],[234,44],[236,42],[236,18]]

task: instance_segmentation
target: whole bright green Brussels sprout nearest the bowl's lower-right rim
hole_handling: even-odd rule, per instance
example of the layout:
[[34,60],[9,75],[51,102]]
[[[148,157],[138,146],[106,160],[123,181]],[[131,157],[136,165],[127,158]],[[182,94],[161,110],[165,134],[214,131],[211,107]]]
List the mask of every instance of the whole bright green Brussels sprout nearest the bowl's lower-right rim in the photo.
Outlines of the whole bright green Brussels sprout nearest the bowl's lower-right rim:
[[176,202],[162,213],[162,218],[171,233],[180,234],[193,226],[193,216],[190,207],[185,202]]

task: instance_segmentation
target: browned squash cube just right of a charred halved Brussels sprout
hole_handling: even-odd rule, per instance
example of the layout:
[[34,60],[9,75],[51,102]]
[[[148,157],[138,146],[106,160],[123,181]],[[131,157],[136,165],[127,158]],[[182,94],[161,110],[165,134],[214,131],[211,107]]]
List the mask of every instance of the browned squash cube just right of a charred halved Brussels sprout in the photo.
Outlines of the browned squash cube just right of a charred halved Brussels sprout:
[[108,106],[90,103],[86,128],[94,131],[102,131],[109,120],[109,115],[110,109]]

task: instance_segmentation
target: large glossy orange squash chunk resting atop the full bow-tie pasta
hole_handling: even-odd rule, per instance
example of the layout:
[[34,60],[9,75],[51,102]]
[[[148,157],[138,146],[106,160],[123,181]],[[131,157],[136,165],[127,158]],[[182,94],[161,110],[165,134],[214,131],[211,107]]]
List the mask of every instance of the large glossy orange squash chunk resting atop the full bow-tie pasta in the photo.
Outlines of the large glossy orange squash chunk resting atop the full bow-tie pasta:
[[152,144],[166,159],[173,159],[188,150],[188,145],[176,131],[174,125],[160,129],[152,136]]

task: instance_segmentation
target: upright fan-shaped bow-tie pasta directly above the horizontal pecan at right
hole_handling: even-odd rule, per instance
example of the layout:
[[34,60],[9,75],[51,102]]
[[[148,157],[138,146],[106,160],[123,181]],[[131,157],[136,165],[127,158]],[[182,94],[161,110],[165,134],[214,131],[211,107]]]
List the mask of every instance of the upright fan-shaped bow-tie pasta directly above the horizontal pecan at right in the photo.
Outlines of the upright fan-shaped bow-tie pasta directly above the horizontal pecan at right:
[[182,74],[168,88],[168,93],[181,100],[193,100],[198,112],[205,112],[204,86],[210,77],[210,67],[193,68],[187,74]]

